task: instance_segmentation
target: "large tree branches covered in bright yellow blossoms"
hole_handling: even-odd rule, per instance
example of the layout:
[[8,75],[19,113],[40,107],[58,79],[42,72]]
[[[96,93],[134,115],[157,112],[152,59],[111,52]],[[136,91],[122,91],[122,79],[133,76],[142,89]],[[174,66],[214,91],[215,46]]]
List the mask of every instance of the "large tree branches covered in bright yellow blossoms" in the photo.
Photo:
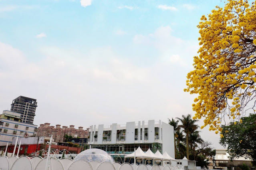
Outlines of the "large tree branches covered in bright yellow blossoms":
[[[255,1],[256,2],[256,1]],[[192,105],[193,119],[222,131],[224,116],[234,121],[256,99],[256,5],[248,0],[228,0],[202,16],[198,25],[201,45],[194,70],[187,74],[184,91],[198,94]],[[255,112],[254,112],[255,113]]]

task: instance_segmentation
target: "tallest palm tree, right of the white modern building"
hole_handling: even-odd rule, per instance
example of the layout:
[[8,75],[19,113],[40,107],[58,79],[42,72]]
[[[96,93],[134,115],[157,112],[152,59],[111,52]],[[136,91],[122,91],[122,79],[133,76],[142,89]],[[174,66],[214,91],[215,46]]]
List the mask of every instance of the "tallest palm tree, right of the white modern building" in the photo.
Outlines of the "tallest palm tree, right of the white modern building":
[[178,126],[182,128],[182,131],[186,134],[187,159],[189,159],[188,136],[198,128],[198,125],[195,125],[195,123],[198,122],[198,120],[191,119],[191,115],[189,114],[186,116],[182,115],[181,119],[176,117],[176,119],[178,119],[181,122],[181,125]]

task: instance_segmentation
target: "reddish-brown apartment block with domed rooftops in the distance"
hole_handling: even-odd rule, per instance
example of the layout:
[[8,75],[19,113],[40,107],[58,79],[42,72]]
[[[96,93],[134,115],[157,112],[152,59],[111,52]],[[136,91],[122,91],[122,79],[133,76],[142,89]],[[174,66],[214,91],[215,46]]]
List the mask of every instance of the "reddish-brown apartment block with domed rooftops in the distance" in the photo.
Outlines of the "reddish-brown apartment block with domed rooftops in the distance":
[[40,124],[37,136],[49,136],[52,134],[52,138],[55,142],[64,142],[64,136],[66,134],[75,138],[87,138],[88,136],[89,128],[83,130],[83,127],[78,127],[78,129],[76,129],[74,125],[70,125],[69,128],[67,126],[62,126],[61,128],[60,126],[61,125],[56,125],[56,127],[50,126],[50,123]]

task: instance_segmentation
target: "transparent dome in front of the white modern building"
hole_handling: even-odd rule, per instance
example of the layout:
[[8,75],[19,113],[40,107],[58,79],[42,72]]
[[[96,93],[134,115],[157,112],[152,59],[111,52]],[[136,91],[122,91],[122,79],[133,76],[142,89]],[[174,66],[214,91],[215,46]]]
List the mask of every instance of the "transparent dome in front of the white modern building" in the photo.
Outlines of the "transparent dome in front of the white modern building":
[[104,150],[101,149],[87,149],[78,154],[74,160],[85,159],[87,161],[97,160],[99,162],[114,162],[113,158]]

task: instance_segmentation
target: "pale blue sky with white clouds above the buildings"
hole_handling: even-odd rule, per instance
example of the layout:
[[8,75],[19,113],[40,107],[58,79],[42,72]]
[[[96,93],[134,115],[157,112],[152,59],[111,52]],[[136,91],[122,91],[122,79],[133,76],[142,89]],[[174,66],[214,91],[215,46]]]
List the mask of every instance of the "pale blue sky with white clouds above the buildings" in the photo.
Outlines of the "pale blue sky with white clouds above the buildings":
[[[0,112],[37,99],[34,124],[125,124],[192,114],[186,75],[202,15],[223,0],[0,0]],[[202,125],[202,121],[199,122]],[[219,134],[201,130],[223,148]]]

